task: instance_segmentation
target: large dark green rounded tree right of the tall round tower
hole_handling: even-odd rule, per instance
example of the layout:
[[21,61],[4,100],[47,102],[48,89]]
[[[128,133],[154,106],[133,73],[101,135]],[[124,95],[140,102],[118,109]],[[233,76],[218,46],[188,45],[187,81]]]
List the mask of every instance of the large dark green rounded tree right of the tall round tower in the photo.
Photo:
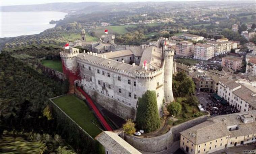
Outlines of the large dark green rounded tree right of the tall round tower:
[[191,95],[195,92],[195,84],[190,77],[185,78],[178,87],[178,92],[181,97]]

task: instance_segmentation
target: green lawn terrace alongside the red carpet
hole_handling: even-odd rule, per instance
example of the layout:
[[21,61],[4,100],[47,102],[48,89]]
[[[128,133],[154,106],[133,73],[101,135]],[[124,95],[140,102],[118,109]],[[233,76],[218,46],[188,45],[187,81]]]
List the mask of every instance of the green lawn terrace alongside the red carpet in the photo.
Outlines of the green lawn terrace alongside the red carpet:
[[65,95],[54,99],[53,102],[90,134],[91,137],[95,138],[102,132],[101,129],[92,123],[93,121],[100,126],[97,118],[83,100],[74,95]]

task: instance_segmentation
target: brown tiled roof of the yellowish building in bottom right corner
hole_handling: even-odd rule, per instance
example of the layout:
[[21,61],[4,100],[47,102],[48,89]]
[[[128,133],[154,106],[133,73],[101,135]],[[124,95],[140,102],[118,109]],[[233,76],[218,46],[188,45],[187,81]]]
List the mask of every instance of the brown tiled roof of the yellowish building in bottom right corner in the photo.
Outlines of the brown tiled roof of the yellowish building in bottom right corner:
[[[249,111],[256,116],[256,111]],[[244,123],[239,116],[244,113],[234,113],[210,118],[207,121],[180,132],[192,143],[199,145],[222,137],[238,137],[256,133],[256,122]],[[229,131],[228,126],[237,125],[239,129]]]

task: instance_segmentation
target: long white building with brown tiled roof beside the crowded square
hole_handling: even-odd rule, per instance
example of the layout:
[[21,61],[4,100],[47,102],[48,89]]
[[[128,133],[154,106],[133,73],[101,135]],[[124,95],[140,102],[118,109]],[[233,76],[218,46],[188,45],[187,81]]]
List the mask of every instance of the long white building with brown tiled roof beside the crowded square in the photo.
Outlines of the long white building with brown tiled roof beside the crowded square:
[[256,109],[256,82],[245,79],[219,80],[218,95],[239,111]]

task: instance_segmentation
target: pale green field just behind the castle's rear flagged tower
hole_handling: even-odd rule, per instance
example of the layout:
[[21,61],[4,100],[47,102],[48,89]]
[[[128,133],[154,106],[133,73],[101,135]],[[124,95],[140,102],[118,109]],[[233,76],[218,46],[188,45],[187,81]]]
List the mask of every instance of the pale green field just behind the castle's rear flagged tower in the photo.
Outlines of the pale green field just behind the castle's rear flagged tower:
[[108,27],[101,27],[94,30],[95,35],[97,37],[101,37],[104,35],[104,30],[107,29],[109,34],[117,33],[117,34],[125,34],[128,31],[126,30],[127,27],[136,27],[136,25],[124,25],[124,26],[108,26]]

